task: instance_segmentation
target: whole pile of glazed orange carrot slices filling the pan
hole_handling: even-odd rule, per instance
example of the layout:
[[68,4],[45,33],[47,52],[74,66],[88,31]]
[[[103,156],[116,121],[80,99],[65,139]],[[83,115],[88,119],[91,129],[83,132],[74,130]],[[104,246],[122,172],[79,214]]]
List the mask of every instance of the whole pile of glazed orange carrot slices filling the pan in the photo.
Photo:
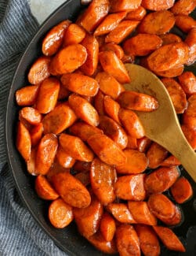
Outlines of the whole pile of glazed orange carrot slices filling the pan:
[[[134,112],[155,111],[157,99],[123,84],[132,79],[127,62],[159,76],[196,149],[196,77],[183,72],[196,59],[195,6],[93,0],[75,23],[49,30],[30,84],[16,91],[16,147],[36,176],[38,196],[51,201],[50,223],[65,228],[74,220],[104,253],[156,256],[160,242],[185,251],[171,227],[182,221],[178,204],[193,195],[191,184]],[[176,27],[185,39],[171,32]]]

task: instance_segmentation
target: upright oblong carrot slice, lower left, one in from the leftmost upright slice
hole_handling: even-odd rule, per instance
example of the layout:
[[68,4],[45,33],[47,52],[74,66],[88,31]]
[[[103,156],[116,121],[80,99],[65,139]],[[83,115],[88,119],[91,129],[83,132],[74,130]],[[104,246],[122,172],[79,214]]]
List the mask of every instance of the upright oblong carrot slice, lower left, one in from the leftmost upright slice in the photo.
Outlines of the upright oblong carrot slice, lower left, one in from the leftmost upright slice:
[[38,144],[38,150],[35,159],[35,172],[45,175],[53,165],[58,147],[58,139],[53,133],[44,135]]

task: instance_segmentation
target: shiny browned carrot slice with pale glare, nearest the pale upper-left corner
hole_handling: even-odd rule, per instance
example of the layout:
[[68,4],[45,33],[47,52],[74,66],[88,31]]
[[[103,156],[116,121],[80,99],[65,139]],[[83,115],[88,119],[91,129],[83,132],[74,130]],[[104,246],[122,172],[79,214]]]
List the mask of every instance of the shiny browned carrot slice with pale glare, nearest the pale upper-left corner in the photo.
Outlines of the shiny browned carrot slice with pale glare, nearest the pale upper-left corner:
[[63,43],[64,34],[68,26],[71,24],[70,20],[64,20],[49,30],[42,42],[42,53],[45,56],[52,56],[56,54],[57,50]]

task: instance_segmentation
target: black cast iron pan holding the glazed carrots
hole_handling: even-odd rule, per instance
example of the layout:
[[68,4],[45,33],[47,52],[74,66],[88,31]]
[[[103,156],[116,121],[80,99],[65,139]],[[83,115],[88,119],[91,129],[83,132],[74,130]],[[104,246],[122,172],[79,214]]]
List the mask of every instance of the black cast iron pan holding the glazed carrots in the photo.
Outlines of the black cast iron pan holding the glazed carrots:
[[[74,223],[71,223],[67,228],[56,229],[49,224],[47,217],[48,203],[38,198],[34,191],[34,176],[27,173],[24,160],[16,150],[16,121],[19,107],[16,106],[15,92],[24,84],[27,84],[27,71],[32,62],[41,54],[42,39],[49,28],[58,24],[61,20],[75,20],[81,9],[84,8],[80,4],[80,0],[69,0],[60,6],[48,20],[38,30],[37,34],[27,46],[20,63],[13,77],[13,83],[10,87],[9,98],[5,120],[5,137],[9,158],[10,171],[16,183],[16,188],[19,191],[24,205],[30,211],[31,215],[38,222],[40,227],[53,239],[61,250],[64,250],[68,255],[103,255],[101,252],[93,248],[82,236],[78,235],[77,228]],[[196,166],[195,166],[196,168]],[[184,173],[184,172],[183,172]],[[184,173],[185,176],[186,173]],[[188,177],[189,178],[189,177]],[[189,180],[191,180],[189,178]],[[196,191],[195,184],[191,181],[194,187],[194,195]],[[187,247],[187,252],[182,255],[196,255],[196,199],[183,204],[184,221],[179,226],[174,228],[177,236],[180,236],[183,243]],[[162,255],[181,255],[180,253],[168,251],[162,247]]]

